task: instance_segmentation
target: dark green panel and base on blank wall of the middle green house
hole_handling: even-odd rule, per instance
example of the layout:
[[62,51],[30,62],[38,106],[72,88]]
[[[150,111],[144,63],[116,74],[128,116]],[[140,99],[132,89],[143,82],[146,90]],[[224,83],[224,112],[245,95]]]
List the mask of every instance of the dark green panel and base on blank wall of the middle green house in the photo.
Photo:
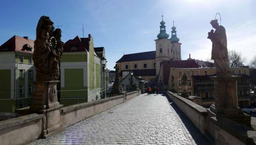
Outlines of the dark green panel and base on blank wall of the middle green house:
[[[82,68],[65,69],[64,83],[65,87],[61,88],[61,98],[74,97],[85,98],[87,100],[87,87],[84,87],[84,75]],[[82,90],[82,91],[67,91],[67,90]]]

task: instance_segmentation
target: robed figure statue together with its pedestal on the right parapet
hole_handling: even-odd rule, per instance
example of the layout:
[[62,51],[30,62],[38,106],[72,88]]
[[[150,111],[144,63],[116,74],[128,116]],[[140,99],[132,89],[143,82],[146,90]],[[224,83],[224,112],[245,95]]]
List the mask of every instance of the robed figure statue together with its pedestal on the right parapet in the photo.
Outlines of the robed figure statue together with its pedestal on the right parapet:
[[232,76],[228,66],[227,36],[223,26],[218,20],[210,22],[213,28],[208,32],[208,39],[212,41],[212,60],[214,60],[217,76],[211,77],[214,81],[215,103],[211,110],[216,117],[227,117],[234,121],[250,124],[250,117],[245,115],[237,105],[237,80],[241,76]]

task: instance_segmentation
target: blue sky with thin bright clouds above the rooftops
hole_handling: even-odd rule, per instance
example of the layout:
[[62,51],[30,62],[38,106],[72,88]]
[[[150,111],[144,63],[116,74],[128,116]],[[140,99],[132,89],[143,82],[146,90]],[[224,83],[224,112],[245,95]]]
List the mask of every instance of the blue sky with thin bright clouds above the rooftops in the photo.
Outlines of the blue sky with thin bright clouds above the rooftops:
[[[172,21],[180,38],[181,58],[210,58],[207,33],[216,12],[226,28],[227,48],[242,54],[247,65],[256,55],[256,0],[0,0],[0,45],[14,35],[35,40],[42,15],[62,25],[62,41],[91,34],[105,47],[107,68],[123,54],[155,50],[160,21],[171,36]],[[220,19],[220,17],[217,17]]]

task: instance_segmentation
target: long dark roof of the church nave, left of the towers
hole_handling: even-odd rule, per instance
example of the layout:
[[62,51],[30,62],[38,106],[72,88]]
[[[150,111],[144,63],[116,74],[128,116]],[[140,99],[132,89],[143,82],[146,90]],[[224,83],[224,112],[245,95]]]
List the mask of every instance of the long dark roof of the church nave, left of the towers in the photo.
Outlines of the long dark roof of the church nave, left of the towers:
[[135,54],[125,54],[116,63],[136,60],[154,60],[156,51],[140,52]]

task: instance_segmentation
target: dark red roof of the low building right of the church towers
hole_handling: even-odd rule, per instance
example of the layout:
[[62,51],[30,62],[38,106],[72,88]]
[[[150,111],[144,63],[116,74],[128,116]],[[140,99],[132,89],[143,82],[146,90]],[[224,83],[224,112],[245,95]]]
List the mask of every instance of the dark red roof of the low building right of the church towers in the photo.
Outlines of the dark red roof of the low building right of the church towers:
[[198,68],[195,60],[164,60],[163,61],[163,82],[168,85],[170,68]]

